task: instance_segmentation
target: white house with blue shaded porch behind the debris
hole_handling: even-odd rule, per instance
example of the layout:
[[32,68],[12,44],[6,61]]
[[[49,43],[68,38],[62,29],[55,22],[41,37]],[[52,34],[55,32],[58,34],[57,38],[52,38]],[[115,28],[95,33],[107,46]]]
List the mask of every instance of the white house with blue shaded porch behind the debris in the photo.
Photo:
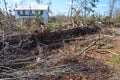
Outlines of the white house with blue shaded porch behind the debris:
[[19,6],[15,8],[15,17],[16,18],[33,18],[35,13],[37,12],[40,18],[43,19],[45,23],[48,23],[48,5],[26,5],[26,6]]

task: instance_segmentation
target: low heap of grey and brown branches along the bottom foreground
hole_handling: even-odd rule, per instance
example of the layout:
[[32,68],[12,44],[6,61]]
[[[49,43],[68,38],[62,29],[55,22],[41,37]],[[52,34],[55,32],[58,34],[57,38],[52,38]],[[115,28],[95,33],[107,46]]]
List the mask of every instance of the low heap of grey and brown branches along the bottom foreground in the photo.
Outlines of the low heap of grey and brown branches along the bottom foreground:
[[94,58],[85,57],[82,60],[69,60],[61,64],[52,62],[53,65],[48,63],[51,61],[32,63],[32,66],[20,69],[0,66],[0,78],[3,80],[109,80],[113,77],[112,69]]

